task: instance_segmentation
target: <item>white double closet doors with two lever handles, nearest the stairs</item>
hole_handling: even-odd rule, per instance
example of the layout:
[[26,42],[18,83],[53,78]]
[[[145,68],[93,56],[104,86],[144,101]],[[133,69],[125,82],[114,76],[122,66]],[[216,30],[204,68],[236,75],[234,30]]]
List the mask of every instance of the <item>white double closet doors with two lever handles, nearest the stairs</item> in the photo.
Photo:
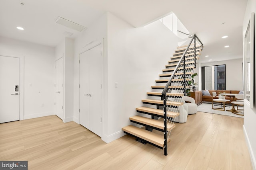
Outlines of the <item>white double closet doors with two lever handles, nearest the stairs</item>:
[[80,55],[80,124],[101,136],[102,56],[100,45]]

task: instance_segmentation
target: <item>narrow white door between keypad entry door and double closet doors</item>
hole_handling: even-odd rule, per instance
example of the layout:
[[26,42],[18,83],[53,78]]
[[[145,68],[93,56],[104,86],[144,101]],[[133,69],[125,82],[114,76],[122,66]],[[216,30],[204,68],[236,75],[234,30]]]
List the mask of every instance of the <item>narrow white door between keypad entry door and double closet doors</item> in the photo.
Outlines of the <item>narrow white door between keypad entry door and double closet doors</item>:
[[54,96],[55,96],[55,115],[63,120],[63,102],[64,102],[64,60],[63,57],[55,61],[55,84],[54,84]]

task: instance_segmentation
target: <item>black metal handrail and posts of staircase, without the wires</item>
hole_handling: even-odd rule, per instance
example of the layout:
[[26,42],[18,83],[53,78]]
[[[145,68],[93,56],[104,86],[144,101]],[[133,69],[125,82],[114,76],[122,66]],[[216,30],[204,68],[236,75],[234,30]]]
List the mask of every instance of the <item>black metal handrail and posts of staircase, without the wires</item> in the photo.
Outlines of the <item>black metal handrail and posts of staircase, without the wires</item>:
[[196,39],[201,44],[201,46],[203,46],[200,39],[198,39],[198,37],[196,35],[193,35],[192,39],[190,40],[190,42],[188,44],[188,47],[184,51],[182,57],[180,58],[180,61],[177,63],[177,65],[176,65],[176,67],[175,67],[175,69],[172,73],[172,76],[170,77],[166,86],[164,87],[164,90],[162,91],[162,99],[163,99],[163,102],[164,102],[164,148],[163,148],[164,149],[164,155],[167,155],[167,114],[166,114],[167,113],[167,104],[166,104],[166,93],[167,93],[168,87],[171,85],[172,79],[174,79],[174,76],[175,76],[176,72],[178,71],[178,68],[179,68],[179,66],[182,62],[184,62],[184,88],[186,90],[186,80],[185,80],[185,78],[186,78],[186,72],[185,72],[185,61],[186,61],[186,59],[185,59],[185,55],[186,55],[188,49],[190,49],[190,45],[194,40],[194,55],[195,55],[194,60],[195,60],[195,64],[196,64]]

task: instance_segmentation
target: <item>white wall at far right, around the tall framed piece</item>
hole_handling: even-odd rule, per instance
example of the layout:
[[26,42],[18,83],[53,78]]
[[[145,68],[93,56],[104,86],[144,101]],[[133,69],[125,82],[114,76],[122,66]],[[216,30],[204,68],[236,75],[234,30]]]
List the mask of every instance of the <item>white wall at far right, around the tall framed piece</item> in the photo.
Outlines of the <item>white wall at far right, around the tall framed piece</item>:
[[[255,17],[256,0],[248,0],[248,3],[247,3],[246,12],[244,15],[244,23],[243,23],[243,44],[244,44],[244,36],[250,20],[251,12],[254,12],[254,17]],[[255,29],[255,19],[254,19],[254,29]],[[256,45],[254,49],[256,49]],[[254,59],[255,59],[255,56],[254,56]],[[254,81],[255,81],[255,72],[254,72]],[[255,89],[254,89],[254,95],[255,95]],[[256,133],[255,133],[256,123],[255,121],[256,121],[255,105],[254,105],[254,108],[251,109],[250,104],[248,102],[244,102],[244,134],[247,139],[248,149],[251,155],[252,166],[254,170],[256,170]]]

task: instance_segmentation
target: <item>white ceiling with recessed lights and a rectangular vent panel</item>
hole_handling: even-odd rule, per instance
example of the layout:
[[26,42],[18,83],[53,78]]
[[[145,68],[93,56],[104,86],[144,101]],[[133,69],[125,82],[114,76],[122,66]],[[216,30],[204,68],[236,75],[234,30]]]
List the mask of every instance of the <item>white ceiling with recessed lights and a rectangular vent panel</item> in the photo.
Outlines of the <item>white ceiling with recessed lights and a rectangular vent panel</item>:
[[[68,31],[58,16],[85,27],[106,11],[140,27],[174,12],[204,44],[200,62],[242,58],[242,23],[247,0],[0,0],[0,36],[55,47]],[[20,4],[24,3],[24,6]],[[224,24],[222,24],[224,23]],[[24,31],[16,29],[24,27]],[[228,35],[228,38],[221,37]],[[224,48],[230,45],[229,48]],[[209,57],[204,57],[209,55]]]

